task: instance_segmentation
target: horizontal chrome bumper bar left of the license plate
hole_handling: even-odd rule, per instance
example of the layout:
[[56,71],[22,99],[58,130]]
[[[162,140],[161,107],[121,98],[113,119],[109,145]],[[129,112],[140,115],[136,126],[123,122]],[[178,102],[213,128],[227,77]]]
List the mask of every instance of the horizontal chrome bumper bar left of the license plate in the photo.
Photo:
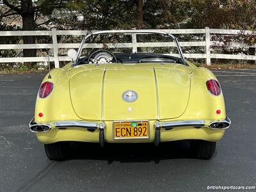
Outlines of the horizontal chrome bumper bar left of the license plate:
[[98,124],[92,122],[79,122],[79,121],[62,121],[54,122],[55,127],[81,127],[87,129],[97,129]]

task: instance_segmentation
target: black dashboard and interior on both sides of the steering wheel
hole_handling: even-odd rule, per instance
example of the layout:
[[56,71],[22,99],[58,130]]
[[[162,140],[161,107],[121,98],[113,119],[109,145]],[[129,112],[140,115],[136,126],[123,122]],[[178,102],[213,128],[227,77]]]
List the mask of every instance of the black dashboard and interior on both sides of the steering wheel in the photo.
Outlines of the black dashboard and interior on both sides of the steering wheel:
[[[179,58],[174,56],[167,56],[163,54],[154,53],[114,53],[118,63],[182,63]],[[83,65],[88,63],[88,56],[80,58],[76,65]]]

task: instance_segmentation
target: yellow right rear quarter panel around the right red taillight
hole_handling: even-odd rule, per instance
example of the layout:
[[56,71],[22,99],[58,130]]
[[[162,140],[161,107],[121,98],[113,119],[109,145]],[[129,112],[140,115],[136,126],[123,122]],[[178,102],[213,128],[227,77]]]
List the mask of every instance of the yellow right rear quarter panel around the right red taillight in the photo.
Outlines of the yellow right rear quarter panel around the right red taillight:
[[[218,79],[207,68],[195,67],[188,62],[193,69],[191,74],[191,92],[189,95],[188,107],[185,113],[180,116],[184,120],[223,120],[225,119],[225,102],[223,92],[218,96],[212,95],[207,90],[206,81],[210,79]],[[220,109],[221,114],[218,115],[216,110]]]

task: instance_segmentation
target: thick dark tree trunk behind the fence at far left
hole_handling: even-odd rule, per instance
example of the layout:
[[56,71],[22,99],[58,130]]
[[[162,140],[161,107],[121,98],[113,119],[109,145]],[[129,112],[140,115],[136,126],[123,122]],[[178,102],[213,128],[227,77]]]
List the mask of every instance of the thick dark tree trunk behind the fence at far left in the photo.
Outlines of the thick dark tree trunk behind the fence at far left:
[[[21,0],[21,17],[22,17],[22,30],[33,31],[36,29],[34,20],[35,12],[33,10],[32,0]],[[35,36],[23,36],[24,44],[35,44]],[[24,57],[36,57],[36,49],[23,49]],[[32,63],[26,63],[29,68],[33,67]]]

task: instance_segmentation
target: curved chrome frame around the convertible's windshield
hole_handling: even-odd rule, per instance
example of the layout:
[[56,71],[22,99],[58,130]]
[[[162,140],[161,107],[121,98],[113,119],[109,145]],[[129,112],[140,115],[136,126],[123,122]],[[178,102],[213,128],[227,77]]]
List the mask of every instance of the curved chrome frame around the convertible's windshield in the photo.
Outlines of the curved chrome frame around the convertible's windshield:
[[172,40],[175,42],[175,44],[177,46],[177,49],[179,51],[180,60],[182,61],[182,63],[184,65],[186,65],[186,62],[185,62],[185,59],[184,59],[184,54],[183,54],[182,49],[180,47],[179,41],[177,40],[177,38],[175,36],[173,36],[170,33],[165,32],[165,31],[155,31],[155,30],[148,30],[148,29],[140,29],[140,30],[106,30],[106,31],[95,31],[93,33],[89,33],[88,35],[84,36],[81,44],[79,45],[79,48],[78,48],[78,51],[77,51],[76,62],[72,66],[76,66],[76,63],[77,63],[77,61],[79,60],[79,58],[81,56],[81,52],[82,52],[82,49],[83,49],[84,42],[86,42],[86,40],[88,38],[90,38],[90,36],[101,35],[101,34],[111,34],[111,33],[161,34],[161,35],[169,36],[170,38],[172,38]]

